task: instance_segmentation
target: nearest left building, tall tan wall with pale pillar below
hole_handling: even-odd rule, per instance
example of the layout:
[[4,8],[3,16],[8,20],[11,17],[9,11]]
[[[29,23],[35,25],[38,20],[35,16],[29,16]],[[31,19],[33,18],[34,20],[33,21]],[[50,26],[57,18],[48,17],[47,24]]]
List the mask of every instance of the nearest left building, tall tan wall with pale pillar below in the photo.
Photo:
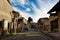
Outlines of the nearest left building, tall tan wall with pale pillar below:
[[[12,21],[12,7],[7,0],[0,0],[0,29],[8,32],[8,23]],[[0,33],[1,33],[0,30]]]

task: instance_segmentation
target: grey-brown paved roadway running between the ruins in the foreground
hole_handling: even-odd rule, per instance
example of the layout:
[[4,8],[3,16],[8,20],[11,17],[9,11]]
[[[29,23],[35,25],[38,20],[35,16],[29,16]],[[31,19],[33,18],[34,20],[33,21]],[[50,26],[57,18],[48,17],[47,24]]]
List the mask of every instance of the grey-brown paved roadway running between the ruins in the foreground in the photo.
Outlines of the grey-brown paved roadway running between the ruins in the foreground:
[[52,40],[52,39],[41,32],[31,31],[31,32],[26,32],[25,34],[20,33],[20,34],[8,36],[1,40]]

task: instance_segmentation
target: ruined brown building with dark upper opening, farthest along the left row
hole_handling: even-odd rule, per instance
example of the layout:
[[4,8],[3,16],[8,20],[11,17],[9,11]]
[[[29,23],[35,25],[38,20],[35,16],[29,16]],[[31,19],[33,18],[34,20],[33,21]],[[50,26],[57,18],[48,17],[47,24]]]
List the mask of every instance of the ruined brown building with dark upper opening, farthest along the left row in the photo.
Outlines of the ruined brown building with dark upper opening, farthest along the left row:
[[27,20],[23,17],[18,19],[18,32],[24,31],[24,27],[27,27]]

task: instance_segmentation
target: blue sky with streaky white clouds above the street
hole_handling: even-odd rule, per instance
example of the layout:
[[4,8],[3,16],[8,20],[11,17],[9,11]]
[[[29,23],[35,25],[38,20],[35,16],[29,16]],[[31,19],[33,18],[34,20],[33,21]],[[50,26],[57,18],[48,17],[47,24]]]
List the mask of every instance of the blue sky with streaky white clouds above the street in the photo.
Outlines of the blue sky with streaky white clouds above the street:
[[22,17],[28,20],[28,17],[37,22],[39,18],[48,17],[47,12],[59,0],[10,0],[10,3],[15,11],[18,11]]

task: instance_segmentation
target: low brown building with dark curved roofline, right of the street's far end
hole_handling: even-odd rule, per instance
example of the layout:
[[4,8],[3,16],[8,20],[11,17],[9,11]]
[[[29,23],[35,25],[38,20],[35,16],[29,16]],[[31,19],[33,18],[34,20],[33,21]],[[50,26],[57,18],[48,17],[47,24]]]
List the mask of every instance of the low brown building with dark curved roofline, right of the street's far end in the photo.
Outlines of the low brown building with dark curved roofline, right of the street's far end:
[[50,22],[48,18],[40,18],[38,20],[39,30],[50,31]]

